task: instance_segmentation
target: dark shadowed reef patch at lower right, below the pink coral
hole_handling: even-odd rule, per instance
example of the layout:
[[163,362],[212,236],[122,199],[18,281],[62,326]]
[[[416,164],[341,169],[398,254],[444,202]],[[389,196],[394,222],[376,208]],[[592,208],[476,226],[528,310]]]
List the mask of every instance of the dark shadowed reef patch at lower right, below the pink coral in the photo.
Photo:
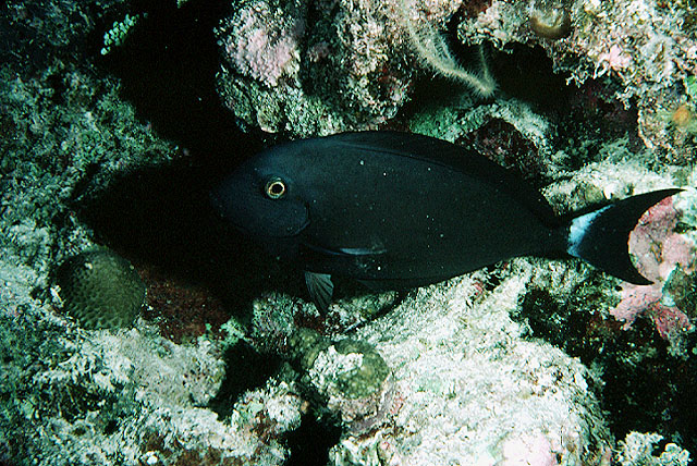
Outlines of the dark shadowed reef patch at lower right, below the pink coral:
[[[596,303],[602,298],[596,293],[579,289],[568,299],[560,299],[546,290],[533,289],[513,318],[525,321],[534,338],[579,357],[586,366],[602,368],[604,383],[598,388],[598,396],[616,439],[632,431],[659,432],[664,439],[655,454],[668,442],[695,451],[697,360],[671,356],[647,316],[639,316],[631,329],[622,330],[620,321],[596,311]],[[685,344],[690,354],[697,347],[697,336],[688,335]]]

